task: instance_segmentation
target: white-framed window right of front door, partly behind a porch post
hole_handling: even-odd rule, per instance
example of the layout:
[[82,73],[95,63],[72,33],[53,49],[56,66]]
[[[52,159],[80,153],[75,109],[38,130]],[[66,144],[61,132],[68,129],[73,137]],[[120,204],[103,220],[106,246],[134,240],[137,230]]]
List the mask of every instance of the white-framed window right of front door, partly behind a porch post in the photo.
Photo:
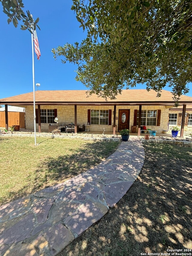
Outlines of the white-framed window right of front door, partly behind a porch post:
[[[156,125],[157,110],[141,110],[141,125]],[[137,112],[137,125],[139,113]]]

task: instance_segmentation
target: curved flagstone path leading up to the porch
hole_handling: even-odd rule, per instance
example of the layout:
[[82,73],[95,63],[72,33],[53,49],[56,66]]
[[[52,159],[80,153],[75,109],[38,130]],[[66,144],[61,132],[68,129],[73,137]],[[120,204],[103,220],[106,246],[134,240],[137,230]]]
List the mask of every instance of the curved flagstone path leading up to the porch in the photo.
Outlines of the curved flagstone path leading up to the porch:
[[61,184],[0,206],[0,255],[56,255],[129,190],[145,159],[130,137],[115,153]]

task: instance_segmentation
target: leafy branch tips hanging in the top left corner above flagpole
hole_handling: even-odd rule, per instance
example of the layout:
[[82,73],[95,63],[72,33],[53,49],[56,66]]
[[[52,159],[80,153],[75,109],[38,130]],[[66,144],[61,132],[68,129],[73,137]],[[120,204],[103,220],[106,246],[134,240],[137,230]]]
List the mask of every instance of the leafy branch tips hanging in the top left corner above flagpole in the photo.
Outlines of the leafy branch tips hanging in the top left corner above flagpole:
[[29,10],[27,11],[27,14],[25,14],[25,12],[23,11],[24,5],[22,3],[22,0],[0,0],[0,2],[3,6],[3,12],[8,16],[8,24],[13,22],[13,25],[17,27],[19,21],[22,20],[22,30],[28,29],[31,32],[31,29],[29,28],[31,28],[32,25],[34,27],[34,30],[36,30],[36,26],[39,28],[39,26],[37,25],[39,18],[37,18],[34,22]]

